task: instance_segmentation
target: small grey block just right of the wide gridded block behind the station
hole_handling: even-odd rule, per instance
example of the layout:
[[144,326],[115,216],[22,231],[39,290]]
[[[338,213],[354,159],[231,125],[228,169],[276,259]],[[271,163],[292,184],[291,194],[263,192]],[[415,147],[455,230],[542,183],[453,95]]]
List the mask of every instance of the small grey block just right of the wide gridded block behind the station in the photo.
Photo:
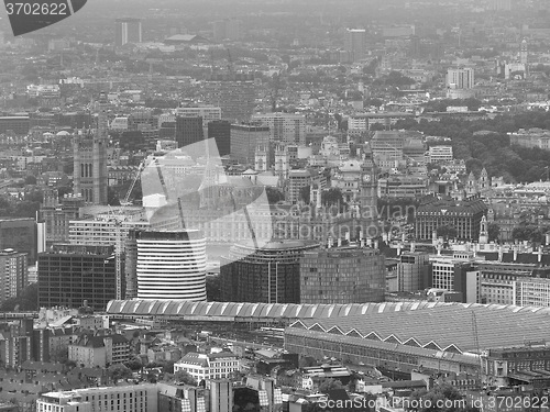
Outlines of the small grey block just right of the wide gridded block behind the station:
[[404,252],[397,264],[397,291],[417,292],[431,285],[429,254]]

